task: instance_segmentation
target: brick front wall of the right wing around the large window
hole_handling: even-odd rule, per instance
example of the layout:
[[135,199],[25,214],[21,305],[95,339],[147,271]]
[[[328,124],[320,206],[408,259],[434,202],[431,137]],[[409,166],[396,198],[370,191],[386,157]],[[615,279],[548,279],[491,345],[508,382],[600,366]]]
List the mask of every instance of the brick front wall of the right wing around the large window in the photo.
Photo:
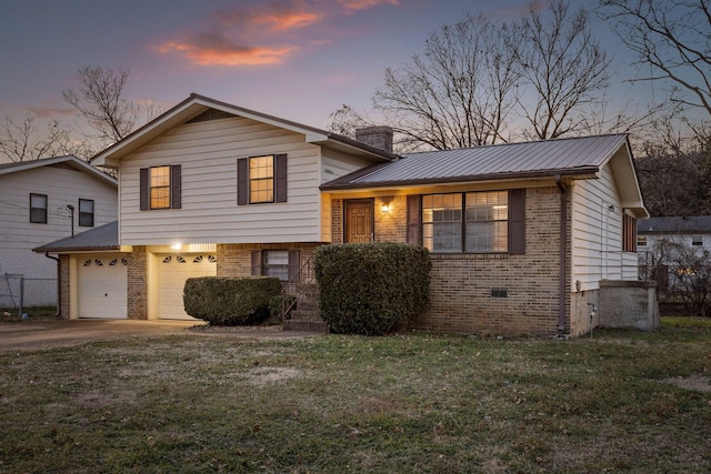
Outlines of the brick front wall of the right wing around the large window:
[[[405,202],[407,196],[395,196],[390,211],[383,213],[380,200],[375,199],[375,240],[405,242]],[[342,209],[341,202],[334,201],[333,209],[336,223],[336,210]],[[333,235],[342,234],[342,229],[334,224]],[[558,188],[528,189],[525,254],[432,254],[430,304],[413,327],[497,335],[555,334],[559,242]],[[492,295],[492,290],[497,295]],[[565,324],[568,327],[568,314]]]

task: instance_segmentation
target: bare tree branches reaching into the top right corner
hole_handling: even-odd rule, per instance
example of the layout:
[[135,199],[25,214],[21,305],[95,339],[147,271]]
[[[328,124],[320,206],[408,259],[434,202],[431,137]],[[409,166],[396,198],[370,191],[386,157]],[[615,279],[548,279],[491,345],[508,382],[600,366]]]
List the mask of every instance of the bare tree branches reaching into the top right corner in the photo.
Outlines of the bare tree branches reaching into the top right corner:
[[638,57],[638,80],[670,81],[671,98],[711,115],[711,4],[708,0],[601,0],[603,18]]

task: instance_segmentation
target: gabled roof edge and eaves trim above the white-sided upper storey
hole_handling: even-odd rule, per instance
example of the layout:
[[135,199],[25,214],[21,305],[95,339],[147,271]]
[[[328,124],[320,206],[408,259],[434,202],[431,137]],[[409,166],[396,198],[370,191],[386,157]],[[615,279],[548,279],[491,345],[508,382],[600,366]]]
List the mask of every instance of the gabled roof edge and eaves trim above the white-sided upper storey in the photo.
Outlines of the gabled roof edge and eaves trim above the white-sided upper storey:
[[[293,122],[291,120],[280,119],[274,115],[270,115],[262,112],[257,112],[254,110],[244,109],[242,107],[233,105],[231,103],[222,102],[219,100],[214,100],[204,95],[200,95],[197,93],[191,93],[190,97],[163,112],[156,119],[146,123],[143,127],[134,130],[122,140],[113,143],[112,145],[106,148],[103,151],[97,153],[94,157],[90,159],[91,162],[94,160],[107,160],[113,154],[118,154],[118,158],[122,158],[126,153],[129,153],[132,150],[132,145],[137,143],[140,145],[140,139],[144,134],[149,133],[152,130],[159,129],[163,124],[169,124],[170,119],[180,118],[181,112],[184,112],[190,108],[190,105],[198,104],[204,107],[204,109],[218,109],[228,113],[238,114],[240,117],[246,117],[248,119],[257,120],[263,123],[268,123],[274,127],[279,127],[282,129],[290,130],[296,133],[301,133],[306,135],[306,141],[308,143],[316,144],[327,144],[328,142],[336,142],[347,148],[357,149],[362,152],[365,152],[373,158],[378,158],[382,161],[392,161],[400,158],[398,154],[390,153],[383,150],[379,150],[377,148],[367,145],[357,140],[349,139],[347,137],[339,135],[337,133],[328,132],[326,130],[320,130],[314,127],[304,125],[302,123]],[[194,117],[194,115],[192,115]],[[184,120],[189,120],[188,117]],[[122,151],[124,153],[122,154]]]

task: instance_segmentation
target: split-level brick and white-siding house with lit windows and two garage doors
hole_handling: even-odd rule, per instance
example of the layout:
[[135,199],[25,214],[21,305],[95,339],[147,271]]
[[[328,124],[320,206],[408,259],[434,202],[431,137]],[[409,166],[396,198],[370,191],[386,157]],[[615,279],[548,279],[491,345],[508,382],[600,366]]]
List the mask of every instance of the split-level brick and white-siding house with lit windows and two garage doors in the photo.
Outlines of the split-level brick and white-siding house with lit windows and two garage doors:
[[371,144],[192,94],[92,160],[119,170],[116,230],[38,249],[61,254],[62,315],[184,319],[187,278],[307,285],[317,246],[374,240],[431,251],[415,327],[654,326],[653,284],[637,281],[648,213],[625,135],[398,157],[387,129],[364,132]]

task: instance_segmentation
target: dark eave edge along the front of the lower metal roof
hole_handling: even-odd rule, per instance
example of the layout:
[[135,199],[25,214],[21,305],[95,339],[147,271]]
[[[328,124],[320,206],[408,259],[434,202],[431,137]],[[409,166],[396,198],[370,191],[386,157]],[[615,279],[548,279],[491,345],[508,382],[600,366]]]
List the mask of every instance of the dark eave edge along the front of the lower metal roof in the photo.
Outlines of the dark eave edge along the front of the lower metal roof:
[[348,190],[362,190],[362,189],[378,189],[378,188],[392,188],[392,186],[417,186],[417,185],[437,185],[437,184],[452,184],[452,183],[467,183],[467,182],[482,182],[482,181],[510,181],[510,180],[527,180],[527,179],[540,179],[540,178],[555,178],[561,177],[578,177],[579,179],[592,179],[600,171],[598,167],[584,167],[573,169],[559,169],[559,170],[541,170],[541,171],[525,171],[525,172],[508,172],[508,173],[489,173],[489,174],[475,174],[465,177],[451,177],[451,178],[427,178],[419,180],[407,181],[382,181],[378,183],[348,183],[348,184],[331,184],[321,185],[321,191],[348,191]]

